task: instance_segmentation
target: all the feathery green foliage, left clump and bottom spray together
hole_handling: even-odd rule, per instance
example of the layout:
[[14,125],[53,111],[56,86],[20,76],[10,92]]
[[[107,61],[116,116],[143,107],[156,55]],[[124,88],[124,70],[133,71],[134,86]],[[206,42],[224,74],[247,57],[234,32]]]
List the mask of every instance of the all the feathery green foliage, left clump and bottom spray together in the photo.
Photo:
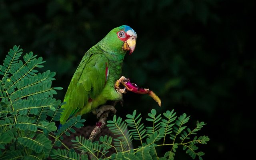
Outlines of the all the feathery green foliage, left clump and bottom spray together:
[[[200,160],[204,152],[198,145],[207,144],[208,136],[196,136],[205,125],[197,122],[194,129],[184,126],[190,116],[182,114],[177,118],[174,110],[157,114],[155,109],[143,121],[134,110],[126,120],[114,115],[107,126],[116,138],[101,136],[91,142],[83,136],[71,140],[72,148],[63,144],[63,134],[70,136],[74,128],[84,126],[81,116],[70,118],[59,129],[55,121],[60,120],[63,104],[53,98],[60,87],[52,87],[55,73],[49,70],[39,73],[45,62],[32,52],[20,60],[22,49],[10,49],[0,66],[0,159],[2,160],[87,160],[88,155],[96,159],[173,160],[178,148]],[[144,124],[149,124],[145,126]],[[194,136],[194,137],[193,137]],[[52,138],[52,140],[50,140]],[[140,142],[138,146],[133,142]],[[132,146],[133,144],[133,146]],[[65,149],[54,149],[63,146]],[[158,152],[164,148],[165,153]],[[110,149],[114,153],[108,155]],[[79,151],[81,153],[76,152]]]

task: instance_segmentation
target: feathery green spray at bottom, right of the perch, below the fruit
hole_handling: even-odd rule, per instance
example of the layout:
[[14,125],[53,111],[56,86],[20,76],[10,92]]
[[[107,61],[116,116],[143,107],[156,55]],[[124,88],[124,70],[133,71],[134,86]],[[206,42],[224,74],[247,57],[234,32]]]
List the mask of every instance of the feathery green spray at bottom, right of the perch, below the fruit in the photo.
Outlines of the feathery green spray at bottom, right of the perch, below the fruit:
[[[152,122],[152,126],[146,127],[148,130],[142,123],[141,114],[136,115],[136,110],[132,114],[127,114],[125,121],[114,115],[113,120],[109,120],[107,124],[109,129],[119,136],[114,138],[114,143],[112,143],[113,138],[106,135],[100,137],[100,142],[90,142],[90,140],[79,136],[76,137],[76,140],[72,140],[73,146],[92,155],[92,159],[173,160],[177,149],[182,148],[192,159],[198,157],[202,160],[204,152],[198,151],[196,144],[207,144],[210,139],[208,136],[192,136],[196,135],[205,123],[197,122],[196,128],[191,130],[184,126],[190,116],[182,114],[177,118],[174,110],[168,110],[163,115],[157,115],[156,110],[152,109],[148,114],[150,118],[146,118],[147,121]],[[127,126],[132,129],[126,130]],[[184,131],[186,128],[187,131]],[[181,136],[179,136],[180,134]],[[178,136],[179,138],[177,138]],[[131,143],[135,140],[139,140],[141,145],[131,148]],[[116,153],[106,157],[107,150],[110,148],[114,148]],[[159,153],[156,148],[165,148],[166,153]]]

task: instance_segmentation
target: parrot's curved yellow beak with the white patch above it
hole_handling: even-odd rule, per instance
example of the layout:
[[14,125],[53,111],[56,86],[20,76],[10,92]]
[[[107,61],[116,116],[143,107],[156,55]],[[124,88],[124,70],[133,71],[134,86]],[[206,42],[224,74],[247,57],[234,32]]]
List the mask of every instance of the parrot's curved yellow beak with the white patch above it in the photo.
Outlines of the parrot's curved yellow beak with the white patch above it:
[[128,30],[127,34],[130,35],[130,38],[124,42],[123,50],[130,51],[129,54],[132,54],[136,46],[137,34],[133,30]]

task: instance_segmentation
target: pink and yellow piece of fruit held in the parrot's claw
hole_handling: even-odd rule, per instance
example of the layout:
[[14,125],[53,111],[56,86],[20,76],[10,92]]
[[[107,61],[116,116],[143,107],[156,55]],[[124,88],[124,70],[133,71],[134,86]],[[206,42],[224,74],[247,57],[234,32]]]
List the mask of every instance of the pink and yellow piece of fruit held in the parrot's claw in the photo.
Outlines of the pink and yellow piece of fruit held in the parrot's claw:
[[[124,86],[124,88],[120,88],[120,84]],[[117,92],[120,93],[126,93],[127,90],[137,93],[137,94],[148,94],[150,97],[152,97],[159,106],[161,106],[161,100],[156,94],[154,94],[153,91],[149,90],[148,88],[140,88],[137,84],[131,83],[129,78],[125,78],[122,76],[119,78],[119,80],[116,81],[115,88]]]

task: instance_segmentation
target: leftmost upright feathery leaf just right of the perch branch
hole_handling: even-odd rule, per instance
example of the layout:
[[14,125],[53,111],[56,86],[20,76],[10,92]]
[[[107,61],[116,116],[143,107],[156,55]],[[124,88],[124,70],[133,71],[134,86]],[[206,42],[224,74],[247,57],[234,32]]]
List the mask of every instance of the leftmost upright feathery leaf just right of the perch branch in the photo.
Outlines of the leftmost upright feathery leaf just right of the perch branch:
[[114,139],[116,149],[122,152],[127,149],[131,150],[130,146],[132,143],[132,136],[130,135],[129,131],[126,130],[127,124],[124,121],[122,122],[122,118],[116,118],[116,115],[114,115],[113,120],[109,120],[107,123],[107,126],[112,133],[115,135],[120,135],[118,138]]

